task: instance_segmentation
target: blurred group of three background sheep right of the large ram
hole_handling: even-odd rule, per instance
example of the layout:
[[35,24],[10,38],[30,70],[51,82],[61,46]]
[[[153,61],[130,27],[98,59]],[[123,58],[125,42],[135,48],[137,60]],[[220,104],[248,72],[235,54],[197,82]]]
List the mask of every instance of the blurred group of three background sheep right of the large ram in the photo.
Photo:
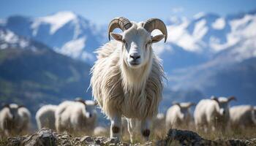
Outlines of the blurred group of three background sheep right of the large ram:
[[[225,131],[227,128],[252,128],[256,126],[256,106],[239,105],[230,107],[235,97],[214,97],[194,103],[174,103],[167,110],[166,128],[193,128],[197,131]],[[194,116],[189,107],[195,105]],[[234,130],[233,129],[233,130]]]

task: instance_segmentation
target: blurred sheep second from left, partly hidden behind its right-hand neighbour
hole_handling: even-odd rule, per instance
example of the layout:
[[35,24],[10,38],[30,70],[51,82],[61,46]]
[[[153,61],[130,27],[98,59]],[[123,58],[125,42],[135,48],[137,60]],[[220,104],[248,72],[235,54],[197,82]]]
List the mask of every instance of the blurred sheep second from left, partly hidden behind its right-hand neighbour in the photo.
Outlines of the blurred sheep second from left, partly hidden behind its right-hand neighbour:
[[36,114],[37,127],[41,128],[50,128],[55,130],[55,111],[58,106],[56,105],[45,105],[42,106]]

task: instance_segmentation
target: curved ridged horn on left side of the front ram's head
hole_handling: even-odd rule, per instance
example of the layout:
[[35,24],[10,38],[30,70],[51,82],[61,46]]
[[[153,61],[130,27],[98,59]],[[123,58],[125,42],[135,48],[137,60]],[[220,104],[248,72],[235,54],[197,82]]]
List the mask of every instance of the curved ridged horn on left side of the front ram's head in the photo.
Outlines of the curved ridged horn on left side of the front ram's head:
[[108,25],[108,39],[110,40],[110,32],[115,28],[120,28],[122,31],[129,29],[132,23],[127,18],[114,18]]

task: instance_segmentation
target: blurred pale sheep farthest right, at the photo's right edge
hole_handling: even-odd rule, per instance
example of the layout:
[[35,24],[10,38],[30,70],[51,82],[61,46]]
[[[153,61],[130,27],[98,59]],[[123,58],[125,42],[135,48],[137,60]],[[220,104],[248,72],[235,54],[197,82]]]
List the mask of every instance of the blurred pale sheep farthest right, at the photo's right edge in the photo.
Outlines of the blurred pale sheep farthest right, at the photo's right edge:
[[230,123],[236,128],[256,126],[255,111],[250,105],[240,105],[230,108]]

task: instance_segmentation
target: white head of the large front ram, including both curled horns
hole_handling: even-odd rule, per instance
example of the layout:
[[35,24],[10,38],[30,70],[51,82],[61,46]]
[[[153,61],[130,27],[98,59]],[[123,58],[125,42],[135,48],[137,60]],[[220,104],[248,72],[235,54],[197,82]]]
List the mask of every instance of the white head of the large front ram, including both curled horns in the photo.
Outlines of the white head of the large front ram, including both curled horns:
[[[115,28],[121,28],[123,34],[113,33]],[[162,34],[151,37],[151,32],[155,29],[159,29]],[[122,56],[127,66],[139,68],[150,61],[152,43],[163,38],[166,41],[167,29],[165,23],[157,18],[149,19],[146,23],[131,23],[127,18],[115,18],[108,26],[109,39],[110,36],[123,43]]]

